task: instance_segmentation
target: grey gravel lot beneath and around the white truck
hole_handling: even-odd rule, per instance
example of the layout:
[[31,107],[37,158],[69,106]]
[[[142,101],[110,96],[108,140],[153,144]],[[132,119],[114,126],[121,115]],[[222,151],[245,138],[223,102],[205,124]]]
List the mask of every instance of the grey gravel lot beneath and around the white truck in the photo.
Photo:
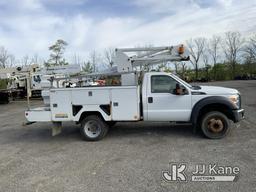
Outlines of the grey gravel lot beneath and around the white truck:
[[[22,127],[26,102],[0,105],[0,191],[253,191],[256,188],[256,81],[216,82],[242,93],[246,119],[222,140],[169,123],[119,123],[99,142],[84,142],[79,126]],[[39,105],[40,101],[33,101]],[[238,166],[237,182],[166,182],[170,162]]]

